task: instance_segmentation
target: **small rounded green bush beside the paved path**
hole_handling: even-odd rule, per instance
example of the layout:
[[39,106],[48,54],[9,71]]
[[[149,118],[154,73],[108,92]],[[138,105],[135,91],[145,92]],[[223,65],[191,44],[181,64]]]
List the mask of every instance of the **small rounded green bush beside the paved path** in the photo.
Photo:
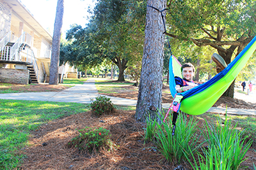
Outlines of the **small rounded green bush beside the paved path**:
[[93,115],[100,117],[101,115],[115,112],[115,107],[110,101],[110,98],[107,98],[106,96],[98,96],[95,99],[95,101],[91,99],[92,103],[90,104]]

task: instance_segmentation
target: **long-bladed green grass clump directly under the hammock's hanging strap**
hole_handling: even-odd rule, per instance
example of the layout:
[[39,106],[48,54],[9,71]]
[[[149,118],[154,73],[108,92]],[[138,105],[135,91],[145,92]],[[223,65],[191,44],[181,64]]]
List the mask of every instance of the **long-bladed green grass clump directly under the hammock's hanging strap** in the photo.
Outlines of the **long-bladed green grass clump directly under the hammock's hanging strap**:
[[[171,116],[170,120],[172,120]],[[184,115],[179,114],[174,136],[172,136],[172,122],[163,124],[157,123],[157,149],[163,153],[164,157],[169,162],[179,164],[196,151],[198,148],[196,143],[200,138],[200,135],[196,135],[197,122],[198,121],[195,122],[193,118],[188,120]]]

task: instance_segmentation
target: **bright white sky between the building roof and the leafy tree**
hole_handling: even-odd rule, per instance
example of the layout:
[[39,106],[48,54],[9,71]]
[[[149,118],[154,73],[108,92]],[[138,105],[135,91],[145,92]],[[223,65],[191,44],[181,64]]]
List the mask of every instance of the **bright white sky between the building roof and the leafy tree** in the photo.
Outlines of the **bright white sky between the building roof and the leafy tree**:
[[[54,30],[57,0],[20,0],[33,17],[51,35]],[[65,34],[70,25],[78,24],[82,27],[88,23],[88,6],[93,7],[93,0],[64,0],[63,25],[61,32]],[[64,36],[65,37],[65,36]]]

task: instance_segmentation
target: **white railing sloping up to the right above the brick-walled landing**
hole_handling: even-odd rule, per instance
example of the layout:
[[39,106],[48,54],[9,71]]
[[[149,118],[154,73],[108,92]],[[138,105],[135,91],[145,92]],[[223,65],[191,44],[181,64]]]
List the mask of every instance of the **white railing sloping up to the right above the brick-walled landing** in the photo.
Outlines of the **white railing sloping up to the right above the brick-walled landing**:
[[29,35],[27,32],[23,32],[23,34],[20,36],[20,38],[15,42],[15,44],[12,46],[10,51],[10,60],[19,61],[20,55],[19,55],[19,48],[22,44],[31,46],[32,42],[32,36]]

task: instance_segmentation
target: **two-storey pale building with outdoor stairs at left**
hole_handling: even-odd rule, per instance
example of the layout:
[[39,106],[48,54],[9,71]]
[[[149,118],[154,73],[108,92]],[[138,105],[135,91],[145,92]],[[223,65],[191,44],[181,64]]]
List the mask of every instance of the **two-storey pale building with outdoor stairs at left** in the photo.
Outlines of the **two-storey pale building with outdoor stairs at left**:
[[[49,32],[19,0],[0,0],[0,16],[0,82],[49,81],[52,48]],[[62,69],[61,73],[67,71]],[[77,70],[73,73],[77,74]]]

